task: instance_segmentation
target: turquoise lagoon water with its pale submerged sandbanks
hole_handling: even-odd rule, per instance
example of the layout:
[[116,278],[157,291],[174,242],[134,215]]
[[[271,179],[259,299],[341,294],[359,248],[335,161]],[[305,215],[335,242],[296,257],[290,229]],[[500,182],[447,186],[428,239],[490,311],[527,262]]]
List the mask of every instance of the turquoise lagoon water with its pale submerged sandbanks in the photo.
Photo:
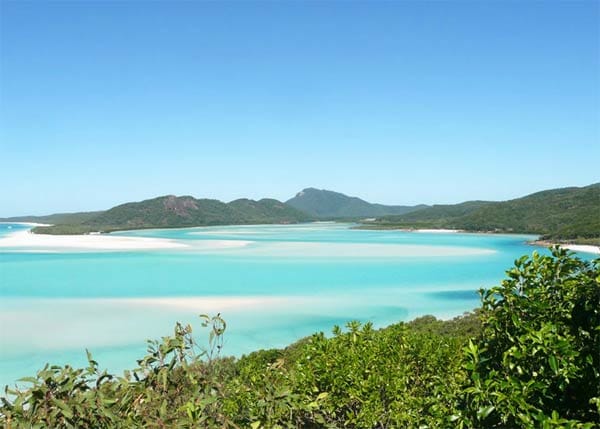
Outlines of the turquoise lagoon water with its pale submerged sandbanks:
[[[113,234],[188,245],[175,250],[0,248],[0,384],[46,362],[83,365],[85,348],[112,371],[131,368],[145,339],[169,334],[175,321],[195,322],[200,313],[222,313],[224,352],[235,355],[353,319],[384,326],[423,314],[455,316],[478,305],[477,289],[497,284],[517,257],[534,250],[525,244],[532,237],[523,235],[349,227]],[[0,225],[0,236],[23,228]],[[205,333],[197,332],[202,342]]]

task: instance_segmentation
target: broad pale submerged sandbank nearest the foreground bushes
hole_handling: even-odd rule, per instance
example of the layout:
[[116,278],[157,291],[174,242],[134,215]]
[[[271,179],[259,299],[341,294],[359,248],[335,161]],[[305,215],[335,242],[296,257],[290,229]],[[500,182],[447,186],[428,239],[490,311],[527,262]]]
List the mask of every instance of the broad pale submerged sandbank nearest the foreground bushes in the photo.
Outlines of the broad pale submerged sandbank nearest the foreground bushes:
[[[176,321],[197,322],[199,314],[285,312],[308,298],[8,298],[0,304],[0,358],[24,349],[65,350],[144,344],[169,334]],[[253,319],[253,316],[251,320]]]

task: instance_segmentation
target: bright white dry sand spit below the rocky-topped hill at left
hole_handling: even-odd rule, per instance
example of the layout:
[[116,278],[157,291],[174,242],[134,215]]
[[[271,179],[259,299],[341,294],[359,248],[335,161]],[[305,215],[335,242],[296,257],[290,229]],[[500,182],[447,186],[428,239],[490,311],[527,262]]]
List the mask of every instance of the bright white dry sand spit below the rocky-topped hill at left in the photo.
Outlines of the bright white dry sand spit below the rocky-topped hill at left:
[[123,237],[111,235],[48,235],[17,231],[0,238],[0,248],[28,249],[90,249],[90,250],[134,250],[176,249],[186,244],[163,238]]

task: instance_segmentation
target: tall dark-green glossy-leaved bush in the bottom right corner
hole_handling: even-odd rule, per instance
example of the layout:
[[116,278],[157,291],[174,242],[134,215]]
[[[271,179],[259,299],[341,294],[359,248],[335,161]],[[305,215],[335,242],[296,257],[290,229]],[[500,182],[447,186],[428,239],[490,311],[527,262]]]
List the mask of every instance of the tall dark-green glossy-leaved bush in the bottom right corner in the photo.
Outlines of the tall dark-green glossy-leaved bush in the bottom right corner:
[[600,260],[522,257],[482,292],[483,330],[465,348],[466,426],[576,425],[598,419]]

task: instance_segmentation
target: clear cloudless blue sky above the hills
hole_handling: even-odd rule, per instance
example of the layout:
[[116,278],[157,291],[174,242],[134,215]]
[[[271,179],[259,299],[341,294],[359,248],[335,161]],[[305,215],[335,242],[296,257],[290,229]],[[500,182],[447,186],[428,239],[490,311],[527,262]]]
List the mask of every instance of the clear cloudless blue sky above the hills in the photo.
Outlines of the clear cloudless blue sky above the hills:
[[0,6],[0,216],[600,181],[600,2]]

